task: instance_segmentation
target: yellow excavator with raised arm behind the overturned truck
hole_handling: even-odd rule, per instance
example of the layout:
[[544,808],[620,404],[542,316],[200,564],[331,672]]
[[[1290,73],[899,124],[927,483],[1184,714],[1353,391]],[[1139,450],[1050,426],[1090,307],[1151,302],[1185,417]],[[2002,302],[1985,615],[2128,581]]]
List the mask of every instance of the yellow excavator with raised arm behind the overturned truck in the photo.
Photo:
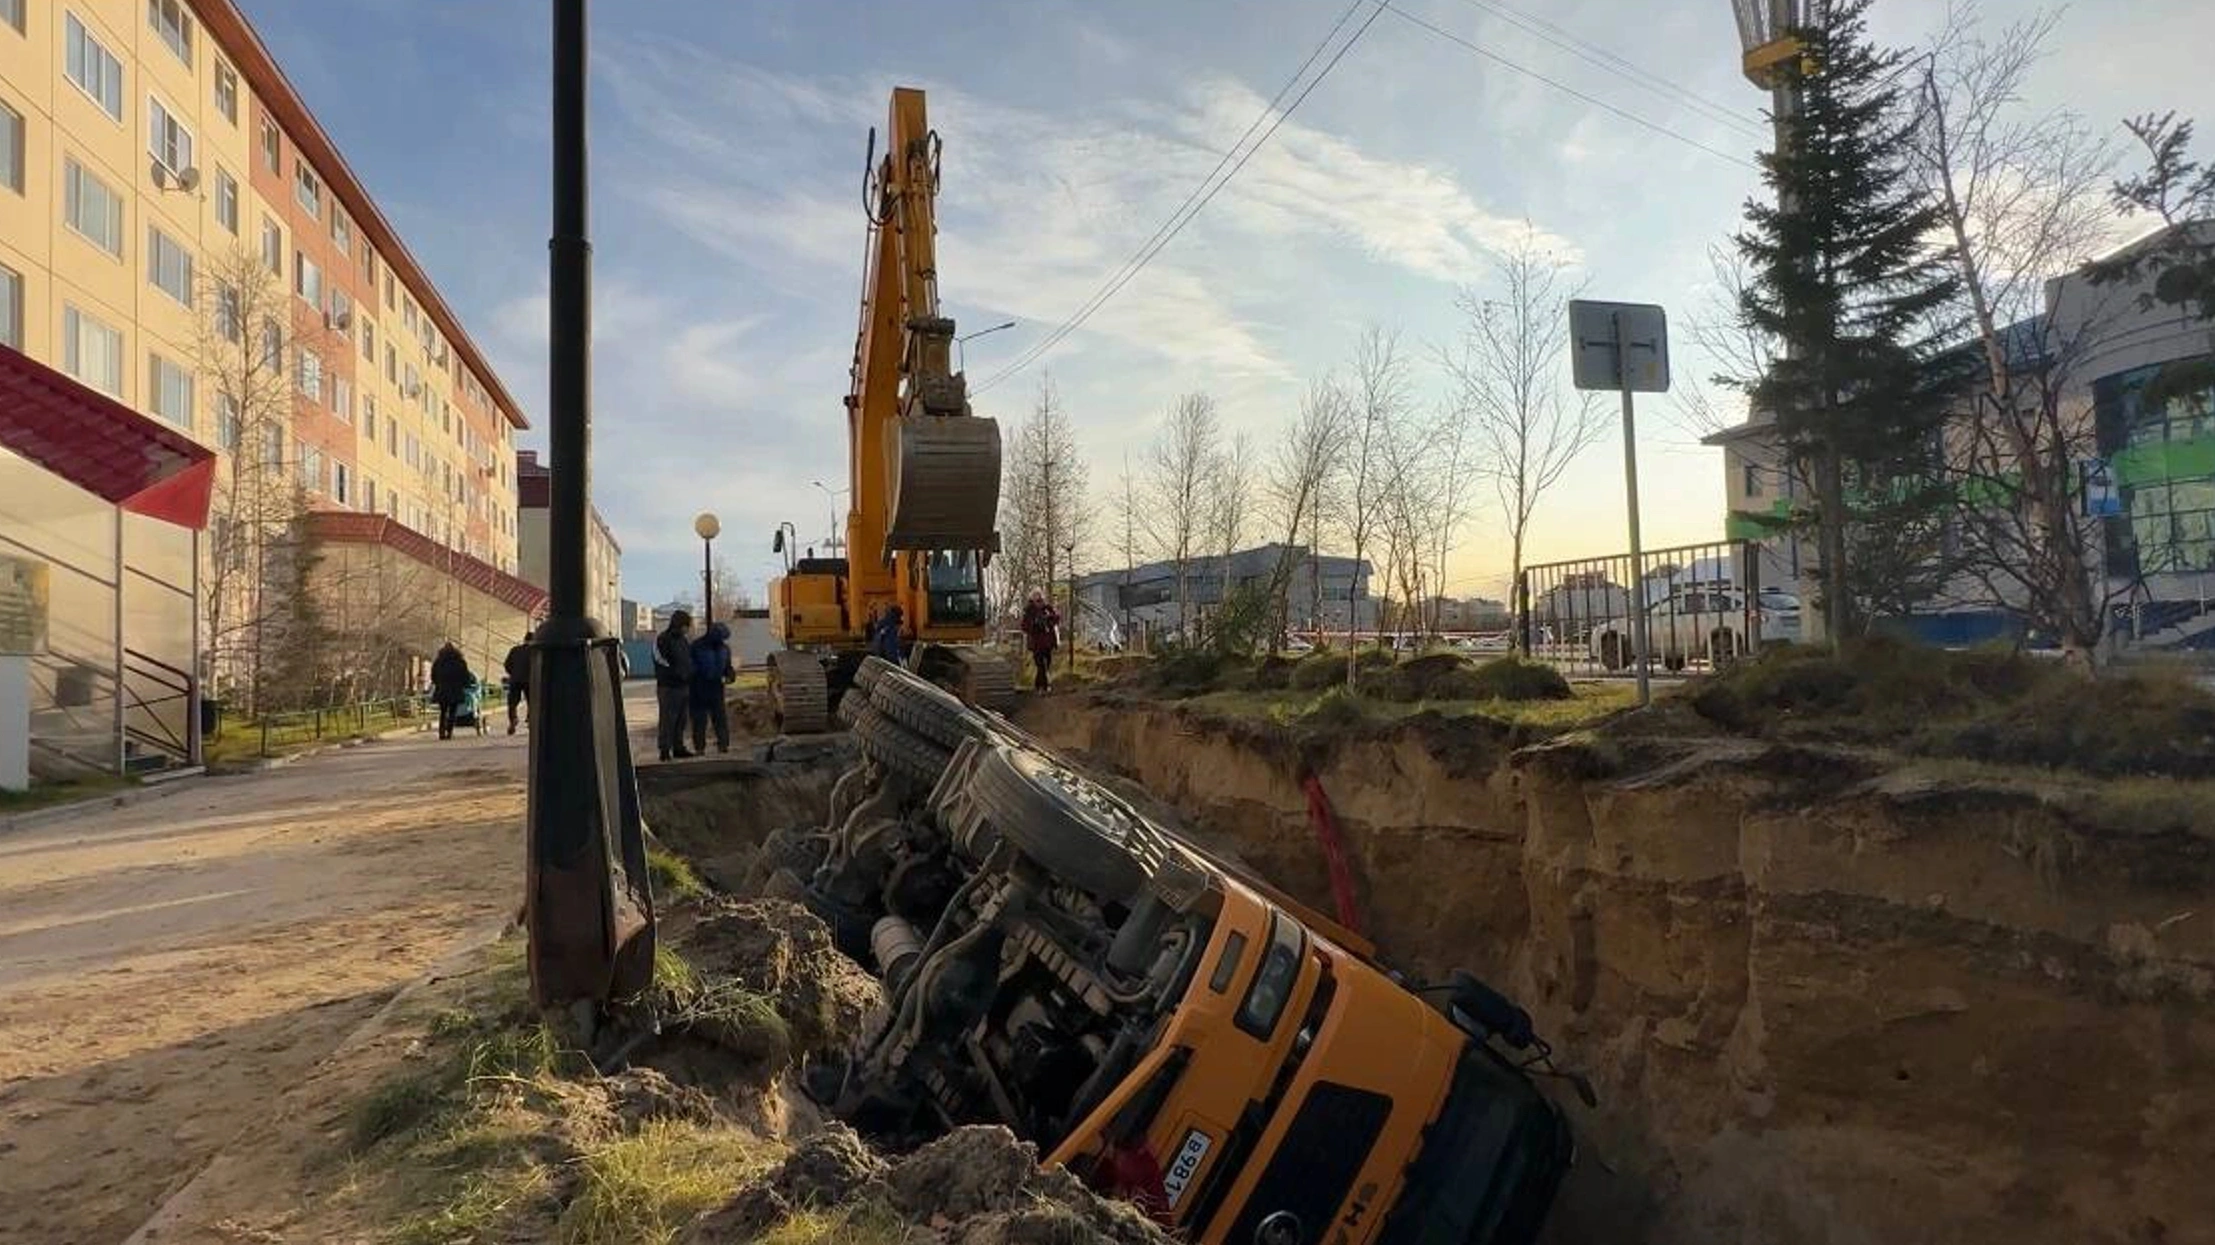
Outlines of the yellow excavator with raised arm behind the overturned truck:
[[939,135],[924,93],[893,91],[884,160],[870,131],[862,328],[846,392],[846,556],[800,556],[773,538],[769,585],[780,642],[769,691],[786,733],[828,731],[870,636],[899,607],[908,665],[964,700],[1012,698],[1008,660],[979,645],[990,622],[983,565],[999,552],[999,425],[970,412],[952,370],[955,321],[939,312]]

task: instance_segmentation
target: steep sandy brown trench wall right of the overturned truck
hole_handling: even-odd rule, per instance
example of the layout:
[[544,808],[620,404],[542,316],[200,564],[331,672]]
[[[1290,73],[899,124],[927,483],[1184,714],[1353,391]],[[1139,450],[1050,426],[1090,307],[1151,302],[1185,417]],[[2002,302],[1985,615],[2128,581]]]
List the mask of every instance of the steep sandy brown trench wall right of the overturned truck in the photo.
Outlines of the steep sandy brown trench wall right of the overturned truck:
[[1367,933],[1504,986],[1599,1088],[1557,1243],[2215,1241],[2215,829],[1743,742],[1026,727],[1329,910],[1313,764]]

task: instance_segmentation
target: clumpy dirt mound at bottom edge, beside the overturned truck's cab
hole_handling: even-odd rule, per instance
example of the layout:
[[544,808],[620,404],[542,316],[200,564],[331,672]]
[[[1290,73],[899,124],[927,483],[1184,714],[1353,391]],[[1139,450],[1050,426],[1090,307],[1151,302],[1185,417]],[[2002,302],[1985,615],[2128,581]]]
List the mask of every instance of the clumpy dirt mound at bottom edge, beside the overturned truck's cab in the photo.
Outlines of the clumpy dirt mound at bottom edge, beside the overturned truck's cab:
[[1006,1128],[959,1128],[886,1161],[844,1125],[804,1139],[684,1241],[740,1245],[795,1223],[822,1227],[822,1241],[913,1241],[915,1229],[946,1245],[1167,1241],[1134,1207],[1041,1170],[1039,1152]]

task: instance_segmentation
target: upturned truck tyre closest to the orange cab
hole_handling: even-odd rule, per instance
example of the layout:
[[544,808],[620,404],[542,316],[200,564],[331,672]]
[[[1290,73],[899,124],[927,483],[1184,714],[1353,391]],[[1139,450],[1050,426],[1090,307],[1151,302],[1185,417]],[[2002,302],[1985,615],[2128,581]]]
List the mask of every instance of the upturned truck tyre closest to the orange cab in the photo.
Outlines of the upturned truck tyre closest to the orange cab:
[[1028,749],[992,749],[970,775],[977,806],[1017,851],[1101,899],[1130,904],[1161,831],[1065,764]]

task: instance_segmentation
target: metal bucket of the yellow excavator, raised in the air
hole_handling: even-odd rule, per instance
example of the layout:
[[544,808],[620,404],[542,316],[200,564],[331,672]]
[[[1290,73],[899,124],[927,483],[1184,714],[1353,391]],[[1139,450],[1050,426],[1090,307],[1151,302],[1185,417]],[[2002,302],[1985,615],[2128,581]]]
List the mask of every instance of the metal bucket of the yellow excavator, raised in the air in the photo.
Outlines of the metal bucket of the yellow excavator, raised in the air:
[[999,423],[975,414],[893,421],[886,549],[999,549]]

